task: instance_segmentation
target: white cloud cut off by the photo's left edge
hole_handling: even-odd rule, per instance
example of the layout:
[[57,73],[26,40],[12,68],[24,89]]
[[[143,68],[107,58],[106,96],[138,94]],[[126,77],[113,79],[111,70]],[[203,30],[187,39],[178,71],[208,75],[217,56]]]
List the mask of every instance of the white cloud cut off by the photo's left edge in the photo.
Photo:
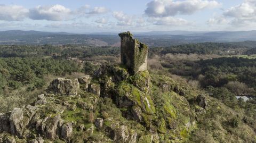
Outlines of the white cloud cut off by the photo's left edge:
[[28,10],[20,5],[0,5],[0,20],[22,21],[27,17]]

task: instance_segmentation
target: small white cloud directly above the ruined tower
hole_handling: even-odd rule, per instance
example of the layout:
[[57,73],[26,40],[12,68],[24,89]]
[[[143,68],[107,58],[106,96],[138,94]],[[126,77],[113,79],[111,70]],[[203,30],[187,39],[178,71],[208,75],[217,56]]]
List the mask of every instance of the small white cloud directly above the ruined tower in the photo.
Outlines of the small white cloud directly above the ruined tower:
[[113,12],[113,16],[115,19],[118,20],[118,26],[132,26],[135,20],[135,16],[127,15],[122,11]]

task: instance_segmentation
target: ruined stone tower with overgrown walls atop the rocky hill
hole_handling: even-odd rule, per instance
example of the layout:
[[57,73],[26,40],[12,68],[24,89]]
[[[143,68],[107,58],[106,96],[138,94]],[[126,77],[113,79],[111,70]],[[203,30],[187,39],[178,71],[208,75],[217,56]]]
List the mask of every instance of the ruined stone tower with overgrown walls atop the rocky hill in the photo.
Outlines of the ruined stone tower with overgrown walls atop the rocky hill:
[[125,65],[130,74],[147,70],[148,47],[133,39],[132,33],[119,33],[121,37],[121,64]]

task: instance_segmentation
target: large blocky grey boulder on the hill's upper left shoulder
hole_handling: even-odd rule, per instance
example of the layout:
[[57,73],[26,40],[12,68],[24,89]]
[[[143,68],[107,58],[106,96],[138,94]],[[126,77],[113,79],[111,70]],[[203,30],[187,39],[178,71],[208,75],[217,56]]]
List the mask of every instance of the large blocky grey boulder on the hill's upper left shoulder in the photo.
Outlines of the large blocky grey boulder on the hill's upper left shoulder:
[[48,92],[67,96],[76,96],[78,94],[78,90],[78,79],[71,80],[65,78],[54,79],[47,89]]

